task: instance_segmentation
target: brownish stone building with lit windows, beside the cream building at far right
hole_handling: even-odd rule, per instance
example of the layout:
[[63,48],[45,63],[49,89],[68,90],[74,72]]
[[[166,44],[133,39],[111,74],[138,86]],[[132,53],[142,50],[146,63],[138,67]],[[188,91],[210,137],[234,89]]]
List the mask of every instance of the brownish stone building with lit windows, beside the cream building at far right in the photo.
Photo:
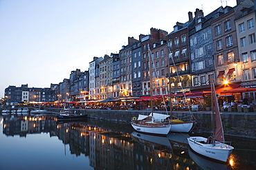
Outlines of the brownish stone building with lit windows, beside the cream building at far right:
[[241,64],[235,28],[237,8],[237,6],[219,8],[211,22],[217,85],[223,84],[224,81],[228,81],[230,85],[241,82],[241,69],[239,69]]

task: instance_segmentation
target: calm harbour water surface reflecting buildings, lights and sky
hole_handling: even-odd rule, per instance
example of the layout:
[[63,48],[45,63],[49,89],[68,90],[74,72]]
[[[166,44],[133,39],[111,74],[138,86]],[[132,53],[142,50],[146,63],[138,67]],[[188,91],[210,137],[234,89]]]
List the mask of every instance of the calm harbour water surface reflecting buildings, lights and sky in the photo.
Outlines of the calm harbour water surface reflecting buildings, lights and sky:
[[[256,140],[231,138],[227,164],[196,155],[186,138],[149,136],[131,125],[54,116],[0,116],[0,169],[256,169]],[[208,136],[208,134],[200,134]]]

